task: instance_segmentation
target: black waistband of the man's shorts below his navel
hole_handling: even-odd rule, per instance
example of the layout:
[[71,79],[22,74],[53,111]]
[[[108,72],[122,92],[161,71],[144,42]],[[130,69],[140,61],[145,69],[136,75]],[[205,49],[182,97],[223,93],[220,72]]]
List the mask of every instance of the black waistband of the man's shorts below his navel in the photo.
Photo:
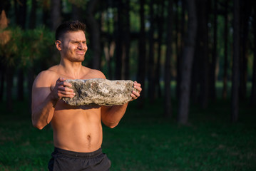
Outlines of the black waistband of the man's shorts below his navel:
[[91,157],[96,157],[98,155],[101,155],[102,149],[99,148],[98,150],[94,152],[74,152],[74,151],[69,151],[69,150],[63,150],[58,147],[54,147],[54,152],[55,154],[60,154],[60,155],[66,155],[68,157],[83,157],[83,158],[91,158]]

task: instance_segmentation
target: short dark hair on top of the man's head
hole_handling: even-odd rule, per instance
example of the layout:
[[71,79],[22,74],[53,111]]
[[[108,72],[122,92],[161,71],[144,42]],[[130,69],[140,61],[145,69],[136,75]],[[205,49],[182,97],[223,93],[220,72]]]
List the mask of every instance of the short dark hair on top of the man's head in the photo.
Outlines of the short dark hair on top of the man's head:
[[80,21],[65,21],[56,29],[55,39],[60,40],[69,31],[83,31],[86,33],[86,24]]

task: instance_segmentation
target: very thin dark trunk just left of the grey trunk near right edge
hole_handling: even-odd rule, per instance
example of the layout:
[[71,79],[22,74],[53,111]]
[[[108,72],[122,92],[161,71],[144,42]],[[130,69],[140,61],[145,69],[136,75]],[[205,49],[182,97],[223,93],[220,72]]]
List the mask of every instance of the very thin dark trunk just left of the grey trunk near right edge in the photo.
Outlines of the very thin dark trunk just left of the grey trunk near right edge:
[[228,9],[228,0],[225,0],[225,12],[224,12],[224,67],[223,67],[223,90],[222,90],[222,98],[227,98],[227,37],[228,37],[228,28],[227,28],[227,9]]

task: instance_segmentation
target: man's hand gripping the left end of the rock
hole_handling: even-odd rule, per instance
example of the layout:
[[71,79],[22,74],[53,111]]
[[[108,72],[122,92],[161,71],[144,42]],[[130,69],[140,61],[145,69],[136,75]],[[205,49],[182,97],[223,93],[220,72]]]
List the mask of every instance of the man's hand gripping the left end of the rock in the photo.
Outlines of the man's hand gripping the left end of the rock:
[[55,87],[51,90],[52,100],[60,100],[61,98],[73,98],[76,94],[71,89],[71,83],[65,81],[66,78],[58,78]]

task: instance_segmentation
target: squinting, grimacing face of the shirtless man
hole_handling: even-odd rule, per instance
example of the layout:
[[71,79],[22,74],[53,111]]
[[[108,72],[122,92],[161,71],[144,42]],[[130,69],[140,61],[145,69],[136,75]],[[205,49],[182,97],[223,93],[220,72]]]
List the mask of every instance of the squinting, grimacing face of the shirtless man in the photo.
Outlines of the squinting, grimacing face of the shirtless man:
[[82,62],[87,49],[86,35],[83,31],[65,33],[61,40],[61,57],[71,62]]

